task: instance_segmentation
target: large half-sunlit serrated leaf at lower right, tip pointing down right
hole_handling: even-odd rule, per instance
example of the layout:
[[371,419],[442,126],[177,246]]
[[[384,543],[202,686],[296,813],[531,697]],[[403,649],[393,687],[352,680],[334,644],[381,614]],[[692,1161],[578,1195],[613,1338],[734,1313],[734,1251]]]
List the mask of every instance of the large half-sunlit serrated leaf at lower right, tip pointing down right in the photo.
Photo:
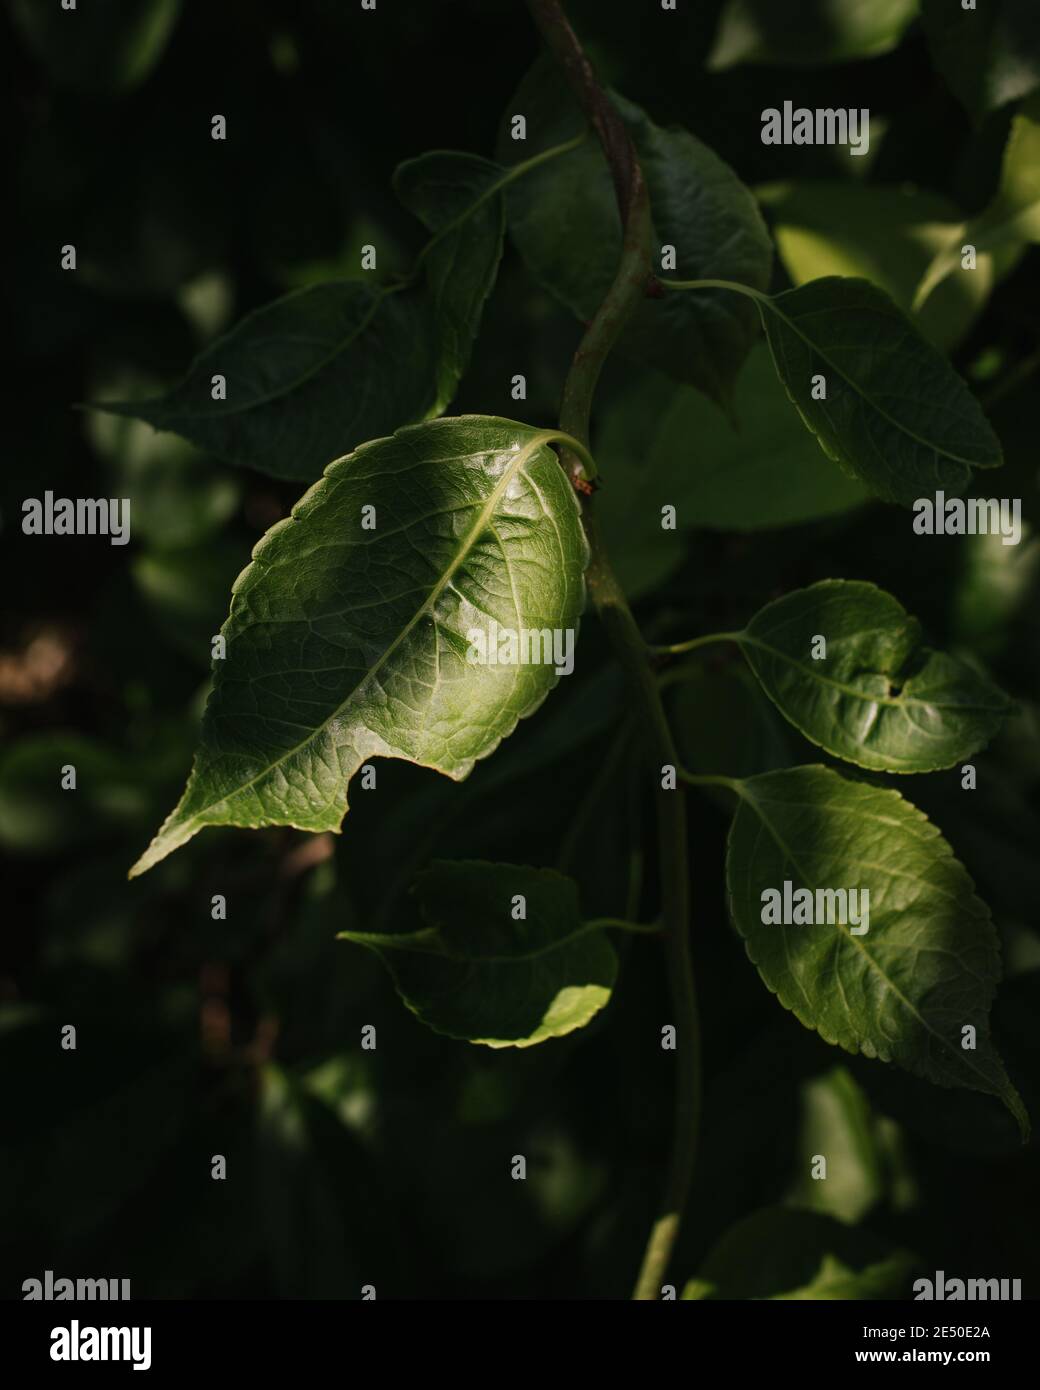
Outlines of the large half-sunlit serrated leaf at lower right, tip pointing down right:
[[[939,830],[898,792],[827,767],[737,785],[726,881],[766,987],[826,1042],[937,1086],[1000,1097],[1027,1136],[1025,1106],[990,1040],[997,933]],[[859,934],[851,923],[763,922],[765,891],[783,892],[786,883],[791,892],[869,892]],[[975,1049],[962,1047],[965,1027]]]

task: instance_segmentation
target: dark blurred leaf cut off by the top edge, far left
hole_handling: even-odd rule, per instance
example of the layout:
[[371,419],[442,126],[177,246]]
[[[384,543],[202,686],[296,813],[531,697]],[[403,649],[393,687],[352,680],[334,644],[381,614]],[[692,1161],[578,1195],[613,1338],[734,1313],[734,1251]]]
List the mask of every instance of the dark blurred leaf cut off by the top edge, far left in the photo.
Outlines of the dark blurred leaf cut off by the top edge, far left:
[[149,75],[179,18],[181,0],[89,0],[74,10],[13,0],[10,14],[58,86],[113,93]]

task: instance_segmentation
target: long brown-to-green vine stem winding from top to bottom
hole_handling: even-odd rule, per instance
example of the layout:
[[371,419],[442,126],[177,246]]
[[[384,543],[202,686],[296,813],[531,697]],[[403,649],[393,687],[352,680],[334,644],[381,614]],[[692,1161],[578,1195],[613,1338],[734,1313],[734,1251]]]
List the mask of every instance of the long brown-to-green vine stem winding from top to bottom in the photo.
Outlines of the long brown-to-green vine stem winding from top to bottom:
[[[647,185],[628,129],[599,86],[559,0],[527,0],[549,51],[563,71],[581,110],[599,138],[615,182],[623,240],[617,274],[585,329],[567,373],[560,403],[560,430],[588,443],[590,414],[599,374],[626,321],[642,302],[651,274],[651,208]],[[574,464],[564,467],[578,482]],[[587,493],[587,489],[580,488]],[[647,644],[610,567],[599,538],[594,507],[583,496],[583,520],[591,559],[585,574],[588,594],[648,726],[656,783],[660,923],[667,951],[669,988],[677,1034],[676,1106],[670,1170],[662,1213],[653,1225],[635,1298],[656,1298],[672,1257],[685,1208],[697,1156],[701,1115],[701,1041],[690,958],[690,869],[687,820],[681,795],[660,785],[660,767],[677,764],[676,746]]]

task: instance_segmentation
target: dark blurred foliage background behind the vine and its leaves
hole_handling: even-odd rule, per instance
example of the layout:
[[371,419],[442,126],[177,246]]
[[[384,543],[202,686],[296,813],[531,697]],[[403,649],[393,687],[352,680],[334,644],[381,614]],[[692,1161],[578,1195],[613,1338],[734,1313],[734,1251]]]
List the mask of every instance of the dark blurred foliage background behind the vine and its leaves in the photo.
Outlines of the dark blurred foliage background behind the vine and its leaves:
[[[117,35],[121,7],[108,8]],[[909,181],[965,213],[991,196],[1009,111],[973,126],[916,29],[869,63],[708,74],[719,0],[683,8],[694,14],[570,6],[609,81],[659,122],[697,132],[747,183],[850,177],[844,152],[761,143],[759,111],[794,97],[866,106],[884,122],[868,182]],[[14,243],[0,531],[0,1290],[17,1297],[24,1279],[53,1269],[129,1277],[135,1297],[357,1297],[363,1284],[380,1297],[621,1297],[670,1140],[656,942],[623,944],[620,984],[590,1029],[491,1052],[424,1030],[378,962],[334,940],[399,920],[431,855],[560,863],[587,913],[635,902],[641,920],[652,916],[649,808],[626,756],[613,756],[623,692],[595,623],[576,676],[464,784],[381,763],[378,795],[355,798],[342,837],[207,830],[128,884],[189,767],[231,582],[300,489],[74,409],[177,379],[247,310],[353,274],[363,242],[378,245],[381,267],[407,264],[419,232],[391,172],[424,149],[491,154],[537,53],[524,7],[188,3],[129,89],[115,38],[56,56],[26,44],[10,13],[1,22]],[[225,143],[209,138],[214,113],[228,118]],[[67,242],[79,250],[75,274],[58,265]],[[993,393],[1008,459],[997,486],[1022,496],[1036,524],[1034,257],[997,286],[954,360],[984,400]],[[507,249],[452,409],[552,423],[578,332]],[[516,371],[528,379],[523,407],[509,399]],[[605,404],[630,371],[610,368]],[[24,537],[21,499],[46,488],[131,496],[131,545]],[[640,613],[680,634],[712,631],[793,587],[869,578],[1021,698],[977,759],[975,795],[959,792],[957,771],[901,790],[994,910],[1007,974],[997,1042],[1037,1119],[1036,567],[1019,555],[1015,566],[990,555],[987,567],[957,539],[923,552],[909,541],[905,514],[881,506],[754,537],[695,532],[681,571]],[[691,758],[720,771],[801,760],[786,727],[783,751],[762,752],[756,731],[766,721],[777,734],[774,720],[737,666],[712,657],[680,712]],[[70,762],[78,790],[63,792]],[[1029,1297],[1040,1289],[1036,1141],[1021,1145],[997,1101],[845,1058],[784,1013],[727,924],[726,816],[691,798],[691,821],[706,1102],[674,1277],[692,1275],[734,1222],[793,1201],[911,1250],[926,1272],[1021,1277]],[[211,920],[213,894],[228,899],[225,922]],[[60,1048],[65,1023],[78,1029],[75,1052]],[[375,1052],[360,1048],[363,1024],[377,1027]],[[827,1099],[836,1068],[858,1087],[855,1123]],[[819,1144],[844,1152],[851,1175],[826,1198],[809,1188],[827,1184],[804,1179]],[[214,1154],[227,1156],[225,1182],[210,1179]],[[513,1154],[528,1155],[527,1183],[510,1180]]]

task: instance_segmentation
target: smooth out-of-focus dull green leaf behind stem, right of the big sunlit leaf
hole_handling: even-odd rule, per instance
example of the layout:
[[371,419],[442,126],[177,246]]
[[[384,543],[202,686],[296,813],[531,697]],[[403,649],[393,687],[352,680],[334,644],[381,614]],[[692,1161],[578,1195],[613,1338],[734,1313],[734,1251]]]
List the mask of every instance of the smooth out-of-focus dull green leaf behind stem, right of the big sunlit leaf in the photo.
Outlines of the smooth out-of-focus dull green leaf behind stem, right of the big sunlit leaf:
[[[596,517],[630,598],[676,569],[683,531],[795,525],[869,500],[805,432],[765,343],[741,368],[733,416],[658,375],[609,403],[596,434]],[[677,531],[662,530],[667,505]]]

